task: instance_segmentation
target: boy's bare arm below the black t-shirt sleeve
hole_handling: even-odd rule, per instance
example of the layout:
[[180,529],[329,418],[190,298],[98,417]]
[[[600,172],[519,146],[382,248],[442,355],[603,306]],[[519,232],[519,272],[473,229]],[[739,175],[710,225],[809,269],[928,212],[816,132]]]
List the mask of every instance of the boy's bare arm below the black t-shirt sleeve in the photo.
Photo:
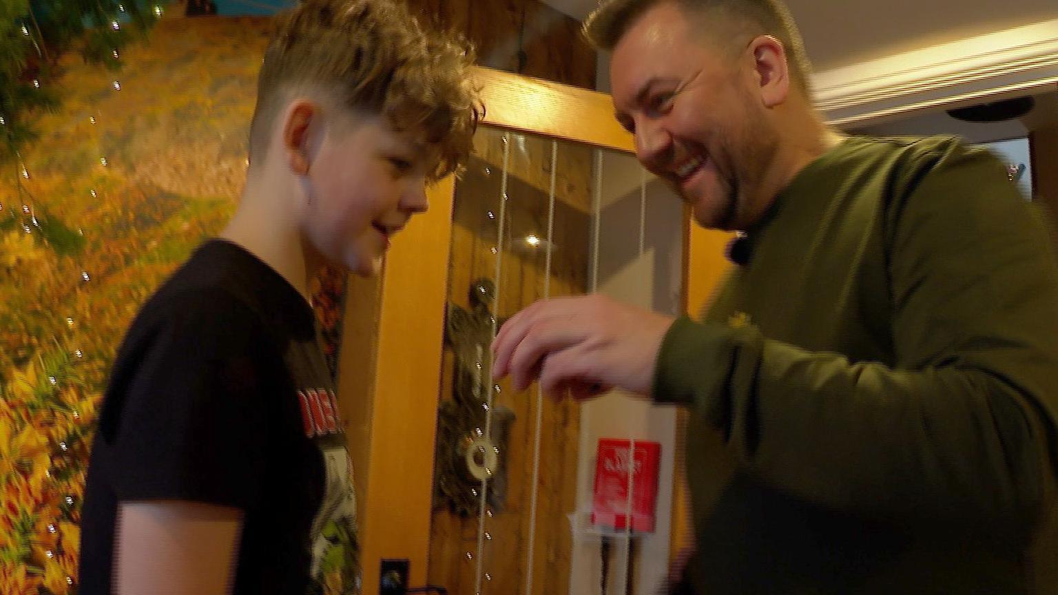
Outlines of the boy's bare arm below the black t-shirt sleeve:
[[235,583],[242,510],[200,502],[118,505],[117,595],[229,595]]

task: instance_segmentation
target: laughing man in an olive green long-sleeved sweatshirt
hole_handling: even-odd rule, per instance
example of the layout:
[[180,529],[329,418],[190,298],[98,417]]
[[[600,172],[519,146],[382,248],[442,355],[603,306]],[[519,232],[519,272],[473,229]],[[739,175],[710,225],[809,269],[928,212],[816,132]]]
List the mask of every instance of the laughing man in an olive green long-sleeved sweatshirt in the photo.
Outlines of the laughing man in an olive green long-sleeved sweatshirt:
[[1023,593],[1058,449],[1044,230],[983,150],[832,131],[785,14],[614,0],[587,21],[639,159],[745,237],[704,322],[536,303],[494,375],[690,410],[681,593]]

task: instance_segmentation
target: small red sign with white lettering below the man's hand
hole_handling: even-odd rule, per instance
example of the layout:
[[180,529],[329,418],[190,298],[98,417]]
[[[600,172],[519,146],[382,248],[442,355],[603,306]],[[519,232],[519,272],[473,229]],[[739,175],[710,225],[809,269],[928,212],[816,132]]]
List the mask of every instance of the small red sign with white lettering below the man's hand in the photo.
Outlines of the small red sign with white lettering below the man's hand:
[[632,530],[653,533],[658,499],[658,462],[661,445],[636,440],[632,459],[632,508],[628,508],[630,441],[616,438],[599,439],[596,459],[595,501],[591,523],[616,530],[625,530],[628,515]]

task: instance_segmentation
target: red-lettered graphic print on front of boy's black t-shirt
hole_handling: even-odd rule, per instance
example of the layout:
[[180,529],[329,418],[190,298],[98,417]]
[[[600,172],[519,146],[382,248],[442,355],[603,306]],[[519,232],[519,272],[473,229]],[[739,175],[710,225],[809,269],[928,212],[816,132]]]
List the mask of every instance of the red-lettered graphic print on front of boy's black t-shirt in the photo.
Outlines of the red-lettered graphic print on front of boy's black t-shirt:
[[360,593],[357,501],[352,464],[338,413],[334,392],[297,392],[306,437],[320,448],[324,466],[324,495],[309,533],[312,595]]

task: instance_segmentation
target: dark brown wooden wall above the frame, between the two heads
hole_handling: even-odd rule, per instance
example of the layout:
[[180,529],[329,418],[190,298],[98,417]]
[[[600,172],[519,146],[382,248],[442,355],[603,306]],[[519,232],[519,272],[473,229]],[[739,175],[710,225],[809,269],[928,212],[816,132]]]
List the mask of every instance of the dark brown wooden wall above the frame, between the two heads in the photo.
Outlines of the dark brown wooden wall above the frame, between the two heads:
[[581,23],[540,0],[407,2],[424,22],[466,36],[481,66],[596,88],[596,53],[581,36]]

